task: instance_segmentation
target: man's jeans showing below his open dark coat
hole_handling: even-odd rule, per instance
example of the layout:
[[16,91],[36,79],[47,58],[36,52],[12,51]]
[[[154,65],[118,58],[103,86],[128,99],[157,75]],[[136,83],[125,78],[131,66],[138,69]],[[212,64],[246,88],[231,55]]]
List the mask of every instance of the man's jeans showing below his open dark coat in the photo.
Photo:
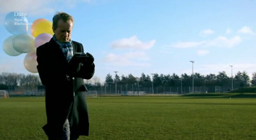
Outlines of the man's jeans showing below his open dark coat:
[[77,140],[77,138],[70,138],[69,121],[66,119],[64,123],[64,130],[58,134],[54,134],[49,140]]

